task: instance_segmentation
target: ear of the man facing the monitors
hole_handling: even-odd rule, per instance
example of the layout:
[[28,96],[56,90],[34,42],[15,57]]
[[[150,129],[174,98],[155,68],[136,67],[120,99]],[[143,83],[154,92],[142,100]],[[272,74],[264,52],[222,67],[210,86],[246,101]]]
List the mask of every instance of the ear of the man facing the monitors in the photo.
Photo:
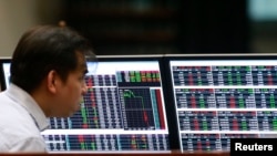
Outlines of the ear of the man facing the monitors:
[[59,75],[54,70],[50,71],[47,76],[47,87],[51,93],[57,93],[57,84],[59,82]]

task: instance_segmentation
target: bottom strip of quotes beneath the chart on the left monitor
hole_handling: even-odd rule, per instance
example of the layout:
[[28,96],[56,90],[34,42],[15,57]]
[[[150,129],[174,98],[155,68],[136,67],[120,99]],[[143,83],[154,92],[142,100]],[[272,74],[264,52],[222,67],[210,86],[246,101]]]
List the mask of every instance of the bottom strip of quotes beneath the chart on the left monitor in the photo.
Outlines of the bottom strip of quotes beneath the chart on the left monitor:
[[168,150],[163,134],[44,135],[52,152],[138,152]]

